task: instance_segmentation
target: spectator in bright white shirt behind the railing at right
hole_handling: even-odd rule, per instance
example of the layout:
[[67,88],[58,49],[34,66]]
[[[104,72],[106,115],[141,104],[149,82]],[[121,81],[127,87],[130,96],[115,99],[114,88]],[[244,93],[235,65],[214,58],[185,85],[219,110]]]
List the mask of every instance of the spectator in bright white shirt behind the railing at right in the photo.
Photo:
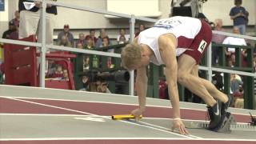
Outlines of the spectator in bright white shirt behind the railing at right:
[[[234,34],[240,34],[238,27],[234,27]],[[237,45],[237,46],[246,46],[246,40],[244,38],[235,38],[235,37],[227,37],[224,39],[222,44],[226,45]],[[229,47],[225,50],[226,58],[228,62],[232,62],[234,66],[235,62],[235,48]]]

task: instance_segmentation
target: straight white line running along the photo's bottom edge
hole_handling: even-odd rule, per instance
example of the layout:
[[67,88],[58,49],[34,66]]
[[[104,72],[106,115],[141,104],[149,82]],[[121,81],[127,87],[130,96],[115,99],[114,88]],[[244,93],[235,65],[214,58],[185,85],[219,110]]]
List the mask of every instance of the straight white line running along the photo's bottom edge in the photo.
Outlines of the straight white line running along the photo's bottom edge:
[[234,139],[234,138],[0,138],[1,141],[58,141],[58,140],[179,140],[179,141],[233,141],[233,142],[255,142],[256,139]]

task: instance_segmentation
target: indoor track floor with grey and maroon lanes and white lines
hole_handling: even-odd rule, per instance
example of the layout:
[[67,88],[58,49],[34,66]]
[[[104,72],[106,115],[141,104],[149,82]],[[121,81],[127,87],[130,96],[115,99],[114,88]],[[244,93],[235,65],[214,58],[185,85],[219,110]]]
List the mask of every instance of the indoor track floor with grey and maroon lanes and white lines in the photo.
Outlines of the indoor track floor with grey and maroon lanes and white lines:
[[[114,121],[111,115],[130,114],[137,97],[71,90],[0,86],[0,144],[82,143],[243,143],[256,142],[256,131],[231,134],[188,129],[190,135],[170,131],[168,100],[147,98],[140,122]],[[206,106],[181,102],[182,119],[205,122]],[[250,122],[249,111],[230,109],[237,122]]]

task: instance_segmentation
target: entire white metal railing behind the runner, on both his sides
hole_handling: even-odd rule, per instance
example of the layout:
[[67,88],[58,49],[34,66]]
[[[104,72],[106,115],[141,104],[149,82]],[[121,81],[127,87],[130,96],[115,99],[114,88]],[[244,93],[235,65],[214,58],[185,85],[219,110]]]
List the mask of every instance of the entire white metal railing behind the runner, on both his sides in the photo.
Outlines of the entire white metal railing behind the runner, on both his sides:
[[[34,1],[34,0],[31,0]],[[143,18],[143,17],[137,17],[134,15],[129,14],[120,14],[115,12],[110,12],[107,10],[100,10],[100,9],[92,9],[90,7],[86,6],[74,6],[62,2],[51,2],[48,0],[37,0],[38,2],[42,2],[42,9],[41,9],[41,26],[42,26],[42,43],[39,42],[21,42],[18,40],[9,40],[0,38],[0,42],[3,43],[11,43],[11,44],[18,44],[18,45],[24,45],[24,46],[37,46],[38,48],[41,48],[41,65],[40,65],[40,86],[45,87],[45,64],[46,64],[46,51],[47,49],[54,49],[54,50],[66,50],[71,52],[77,52],[82,54],[97,54],[97,55],[105,55],[110,57],[116,57],[120,58],[120,54],[113,54],[113,53],[107,53],[107,52],[101,52],[101,51],[94,51],[94,50],[81,50],[81,49],[74,49],[72,47],[63,47],[63,46],[54,46],[54,45],[47,45],[46,44],[46,4],[52,4],[54,6],[62,6],[74,10],[83,10],[88,11],[92,13],[97,14],[108,14],[113,15],[121,18],[129,18],[130,19],[130,42],[134,40],[134,29],[135,29],[135,22],[136,20],[145,21],[145,22],[156,22],[157,19],[153,18]],[[214,34],[222,34],[226,36],[232,36],[232,37],[238,37],[238,38],[246,38],[250,40],[256,41],[255,37],[250,37],[246,35],[238,35],[238,34],[230,34],[220,31],[213,31]],[[221,69],[212,67],[212,58],[211,58],[211,45],[209,46],[207,53],[207,66],[199,66],[200,70],[206,70],[208,72],[208,80],[211,81],[211,75],[212,71],[218,71],[218,72],[224,72],[224,73],[232,73],[232,74],[240,74],[240,75],[246,75],[251,77],[256,77],[256,74],[249,73],[249,72],[243,72],[238,70],[227,70],[227,69]],[[134,95],[134,71],[130,72],[130,95]]]

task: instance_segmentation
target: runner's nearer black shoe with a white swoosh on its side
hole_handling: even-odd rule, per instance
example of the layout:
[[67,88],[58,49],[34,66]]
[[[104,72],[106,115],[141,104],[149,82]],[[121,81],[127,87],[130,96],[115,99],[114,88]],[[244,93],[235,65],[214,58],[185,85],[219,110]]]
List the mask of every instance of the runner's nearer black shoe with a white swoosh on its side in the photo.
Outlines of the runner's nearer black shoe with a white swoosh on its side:
[[210,116],[210,124],[209,129],[213,130],[216,126],[218,126],[219,122],[222,118],[222,106],[221,102],[217,100],[216,104],[212,107],[208,107],[208,113]]

